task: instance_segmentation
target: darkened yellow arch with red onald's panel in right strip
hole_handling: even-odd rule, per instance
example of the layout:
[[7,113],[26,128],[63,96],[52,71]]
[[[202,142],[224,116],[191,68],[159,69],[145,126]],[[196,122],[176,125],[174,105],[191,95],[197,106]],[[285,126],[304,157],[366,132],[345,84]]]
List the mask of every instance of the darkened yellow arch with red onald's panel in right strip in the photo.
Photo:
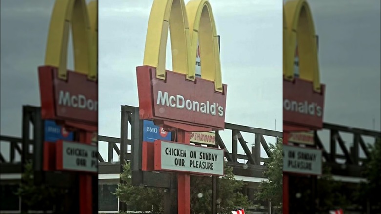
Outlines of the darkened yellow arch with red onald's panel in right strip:
[[[299,77],[294,76],[296,38]],[[325,85],[320,83],[316,39],[308,3],[305,0],[286,2],[283,11],[283,123],[293,127],[292,131],[323,126]]]

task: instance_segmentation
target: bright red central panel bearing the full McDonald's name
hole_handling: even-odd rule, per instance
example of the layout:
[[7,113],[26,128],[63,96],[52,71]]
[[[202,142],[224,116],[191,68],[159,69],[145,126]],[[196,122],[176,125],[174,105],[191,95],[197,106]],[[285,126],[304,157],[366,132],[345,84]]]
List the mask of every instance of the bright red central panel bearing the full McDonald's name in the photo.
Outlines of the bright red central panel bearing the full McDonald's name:
[[[140,119],[156,119],[223,130],[227,85],[223,93],[214,91],[214,82],[166,71],[166,80],[156,79],[151,66],[136,68]],[[192,130],[197,131],[197,130]]]

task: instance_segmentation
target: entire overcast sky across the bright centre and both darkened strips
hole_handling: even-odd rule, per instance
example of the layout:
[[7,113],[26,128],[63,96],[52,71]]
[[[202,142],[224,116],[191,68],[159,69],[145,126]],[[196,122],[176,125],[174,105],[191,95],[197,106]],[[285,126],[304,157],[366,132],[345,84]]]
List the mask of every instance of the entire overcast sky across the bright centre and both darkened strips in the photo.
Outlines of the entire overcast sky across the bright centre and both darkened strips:
[[[226,121],[274,130],[276,118],[276,130],[281,130],[281,1],[210,2],[228,84]],[[40,105],[37,67],[44,63],[53,3],[1,0],[1,135],[20,137],[22,105]],[[99,2],[101,135],[119,137],[120,106],[138,106],[135,67],[143,62],[151,3]],[[327,85],[324,121],[373,129],[375,119],[380,130],[380,1],[309,3],[319,35],[321,82]],[[171,69],[170,51],[167,59]],[[245,140],[254,142],[254,136]],[[107,151],[100,150],[106,157]]]

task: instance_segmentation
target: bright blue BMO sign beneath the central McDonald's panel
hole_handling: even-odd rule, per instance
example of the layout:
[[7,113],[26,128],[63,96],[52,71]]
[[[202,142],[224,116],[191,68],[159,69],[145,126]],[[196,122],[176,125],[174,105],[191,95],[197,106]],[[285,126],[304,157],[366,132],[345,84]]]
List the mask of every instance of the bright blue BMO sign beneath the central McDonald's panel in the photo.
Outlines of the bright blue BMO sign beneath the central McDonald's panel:
[[143,121],[143,141],[153,142],[155,140],[172,140],[172,133],[156,126],[153,121]]

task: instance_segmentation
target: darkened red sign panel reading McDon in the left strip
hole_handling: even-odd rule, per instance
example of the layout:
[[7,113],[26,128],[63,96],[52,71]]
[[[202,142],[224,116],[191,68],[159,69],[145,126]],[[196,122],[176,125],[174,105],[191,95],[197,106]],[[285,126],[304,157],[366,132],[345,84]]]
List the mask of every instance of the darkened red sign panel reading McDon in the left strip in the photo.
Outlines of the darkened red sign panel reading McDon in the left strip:
[[70,120],[98,125],[98,83],[87,75],[68,71],[58,78],[57,68],[39,67],[42,119]]

